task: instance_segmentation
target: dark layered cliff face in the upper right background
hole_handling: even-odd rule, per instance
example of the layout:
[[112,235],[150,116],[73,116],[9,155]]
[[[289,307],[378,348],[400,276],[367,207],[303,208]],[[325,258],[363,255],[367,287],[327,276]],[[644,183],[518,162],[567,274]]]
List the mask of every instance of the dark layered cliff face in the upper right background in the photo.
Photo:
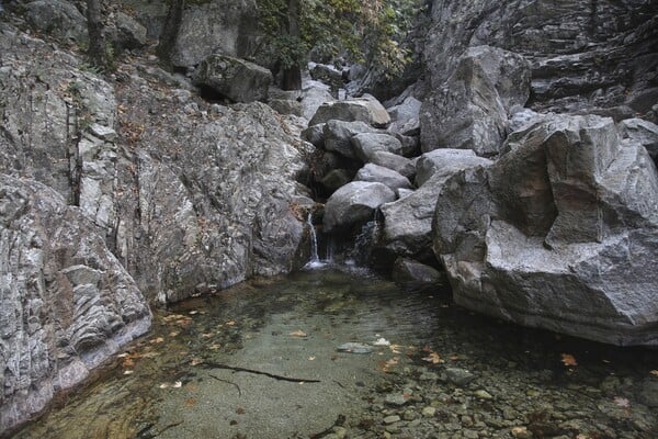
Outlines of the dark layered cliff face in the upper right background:
[[434,0],[431,13],[430,90],[441,90],[468,47],[488,44],[532,63],[534,110],[627,104],[644,114],[656,103],[653,1]]

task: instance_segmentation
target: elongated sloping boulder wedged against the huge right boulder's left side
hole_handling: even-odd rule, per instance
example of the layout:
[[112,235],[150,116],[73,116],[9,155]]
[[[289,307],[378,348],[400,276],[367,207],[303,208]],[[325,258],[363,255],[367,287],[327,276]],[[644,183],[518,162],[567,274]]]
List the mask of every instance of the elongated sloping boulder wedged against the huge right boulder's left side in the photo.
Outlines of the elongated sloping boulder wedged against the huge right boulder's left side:
[[[441,150],[427,155],[433,158],[433,171],[413,193],[382,206],[384,228],[379,246],[392,254],[424,258],[432,250],[432,218],[436,199],[445,182],[468,168],[489,166],[490,160],[476,157],[473,151]],[[419,161],[420,162],[420,161]]]

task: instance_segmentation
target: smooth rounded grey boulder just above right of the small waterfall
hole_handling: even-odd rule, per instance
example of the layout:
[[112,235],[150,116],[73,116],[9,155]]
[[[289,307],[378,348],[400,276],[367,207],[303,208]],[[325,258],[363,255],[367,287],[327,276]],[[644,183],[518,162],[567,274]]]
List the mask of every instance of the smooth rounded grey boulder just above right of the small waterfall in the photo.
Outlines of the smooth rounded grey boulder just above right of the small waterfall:
[[322,218],[325,230],[365,223],[373,218],[377,207],[395,198],[395,192],[382,183],[352,181],[327,200]]

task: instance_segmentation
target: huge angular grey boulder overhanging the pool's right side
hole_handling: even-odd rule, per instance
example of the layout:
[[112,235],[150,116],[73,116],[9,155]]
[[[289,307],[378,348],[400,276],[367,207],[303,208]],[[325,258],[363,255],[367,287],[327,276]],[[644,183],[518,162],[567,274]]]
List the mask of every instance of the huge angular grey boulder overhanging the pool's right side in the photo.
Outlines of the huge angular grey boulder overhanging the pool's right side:
[[468,308],[616,345],[658,344],[658,172],[610,119],[553,116],[450,178],[433,247]]

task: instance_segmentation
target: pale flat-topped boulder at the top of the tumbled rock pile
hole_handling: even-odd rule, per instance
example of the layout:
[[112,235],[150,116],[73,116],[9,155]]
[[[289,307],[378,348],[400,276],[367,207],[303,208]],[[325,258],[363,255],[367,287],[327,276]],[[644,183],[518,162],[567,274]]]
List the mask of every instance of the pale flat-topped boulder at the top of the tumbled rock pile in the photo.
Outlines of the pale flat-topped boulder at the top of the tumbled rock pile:
[[390,123],[390,116],[386,109],[370,94],[347,101],[326,102],[318,108],[308,125],[316,125],[331,120],[360,121],[377,128],[385,128]]

